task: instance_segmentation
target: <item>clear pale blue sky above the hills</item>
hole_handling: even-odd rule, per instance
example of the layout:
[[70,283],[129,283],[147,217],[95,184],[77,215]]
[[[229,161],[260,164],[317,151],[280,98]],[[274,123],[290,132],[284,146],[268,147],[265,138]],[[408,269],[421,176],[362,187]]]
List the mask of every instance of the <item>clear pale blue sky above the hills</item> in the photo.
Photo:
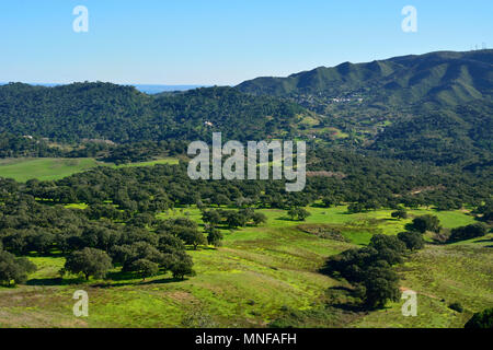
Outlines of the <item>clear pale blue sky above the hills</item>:
[[[72,30],[77,5],[88,33]],[[482,43],[492,0],[0,0],[3,82],[223,85]]]

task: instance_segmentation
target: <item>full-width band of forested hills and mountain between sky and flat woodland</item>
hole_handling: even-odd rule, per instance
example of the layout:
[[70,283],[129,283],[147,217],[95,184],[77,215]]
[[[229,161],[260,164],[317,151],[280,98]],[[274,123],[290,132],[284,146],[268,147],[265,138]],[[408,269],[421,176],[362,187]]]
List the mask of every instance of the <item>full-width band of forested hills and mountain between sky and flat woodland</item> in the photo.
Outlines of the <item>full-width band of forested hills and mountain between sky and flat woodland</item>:
[[[311,147],[484,171],[492,161],[492,86],[493,50],[346,62],[153,96],[101,82],[11,83],[0,86],[0,154],[141,161],[159,154],[162,142],[180,153],[184,145],[175,142],[221,131],[223,139],[302,138]],[[114,143],[126,145],[108,151]]]

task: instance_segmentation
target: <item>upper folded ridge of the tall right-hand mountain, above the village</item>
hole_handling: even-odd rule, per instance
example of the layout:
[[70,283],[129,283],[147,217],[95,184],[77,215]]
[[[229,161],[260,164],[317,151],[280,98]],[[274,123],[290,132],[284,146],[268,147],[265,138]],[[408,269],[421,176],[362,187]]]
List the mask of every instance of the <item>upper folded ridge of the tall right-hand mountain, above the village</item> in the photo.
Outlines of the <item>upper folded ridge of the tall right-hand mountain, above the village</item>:
[[287,78],[257,78],[237,86],[255,95],[362,97],[388,104],[461,104],[493,95],[493,50],[437,51],[368,63],[320,67]]

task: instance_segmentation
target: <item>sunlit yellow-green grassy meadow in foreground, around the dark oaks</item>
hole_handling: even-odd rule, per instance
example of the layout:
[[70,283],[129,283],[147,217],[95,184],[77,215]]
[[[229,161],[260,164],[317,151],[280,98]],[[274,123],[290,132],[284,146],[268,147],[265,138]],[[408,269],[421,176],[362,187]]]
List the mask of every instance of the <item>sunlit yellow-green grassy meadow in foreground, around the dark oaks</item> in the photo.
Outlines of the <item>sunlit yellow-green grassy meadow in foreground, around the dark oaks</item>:
[[[392,220],[389,210],[362,214],[347,214],[345,207],[309,211],[311,217],[301,226],[287,220],[285,211],[262,210],[268,218],[266,224],[223,230],[222,247],[190,252],[197,276],[185,281],[170,275],[141,281],[116,269],[110,280],[85,283],[72,276],[60,281],[57,271],[62,257],[31,257],[38,271],[26,285],[0,288],[0,326],[264,327],[295,314],[298,324],[313,327],[459,327],[473,312],[493,303],[492,243],[483,238],[428,245],[399,268],[402,288],[419,293],[417,317],[403,317],[400,303],[369,314],[328,307],[331,291],[347,285],[318,272],[326,257],[366,244],[375,233],[395,234],[411,219]],[[431,211],[413,213],[424,212]],[[461,211],[438,214],[445,226],[472,222]],[[196,208],[176,209],[160,218],[183,215],[200,223]],[[303,232],[303,225],[339,228],[346,240],[321,238]],[[72,315],[72,294],[80,289],[89,293],[88,318]],[[462,303],[465,313],[447,307],[456,301]]]

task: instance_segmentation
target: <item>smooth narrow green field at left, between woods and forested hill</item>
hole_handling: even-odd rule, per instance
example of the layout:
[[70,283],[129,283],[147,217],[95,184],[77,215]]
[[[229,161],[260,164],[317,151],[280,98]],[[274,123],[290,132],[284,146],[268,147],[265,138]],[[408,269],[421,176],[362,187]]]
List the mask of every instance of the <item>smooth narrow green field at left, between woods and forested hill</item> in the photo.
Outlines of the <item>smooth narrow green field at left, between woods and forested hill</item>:
[[165,158],[149,162],[114,165],[101,163],[91,158],[84,159],[4,159],[0,160],[0,177],[13,178],[25,183],[28,179],[56,180],[69,175],[81,173],[96,166],[112,166],[115,168],[127,166],[153,166],[157,164],[177,164],[179,160]]

